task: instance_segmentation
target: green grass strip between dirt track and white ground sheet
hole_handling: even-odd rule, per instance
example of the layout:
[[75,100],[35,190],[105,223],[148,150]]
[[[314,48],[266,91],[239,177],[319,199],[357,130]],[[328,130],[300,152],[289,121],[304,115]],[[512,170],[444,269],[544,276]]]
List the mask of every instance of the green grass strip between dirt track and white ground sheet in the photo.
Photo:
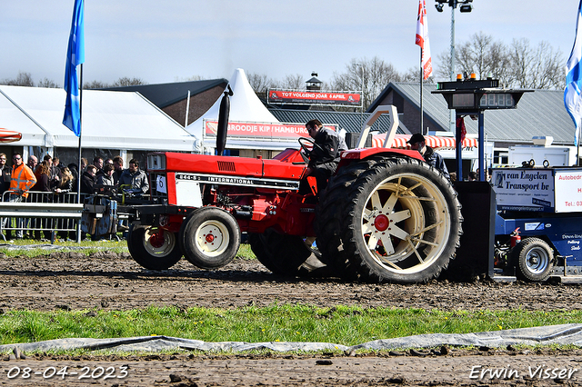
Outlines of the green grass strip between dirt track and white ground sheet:
[[421,333],[486,332],[579,322],[582,322],[582,311],[441,312],[278,304],[234,310],[176,307],[126,312],[14,310],[0,315],[0,342],[166,335],[206,342],[300,341],[354,345]]

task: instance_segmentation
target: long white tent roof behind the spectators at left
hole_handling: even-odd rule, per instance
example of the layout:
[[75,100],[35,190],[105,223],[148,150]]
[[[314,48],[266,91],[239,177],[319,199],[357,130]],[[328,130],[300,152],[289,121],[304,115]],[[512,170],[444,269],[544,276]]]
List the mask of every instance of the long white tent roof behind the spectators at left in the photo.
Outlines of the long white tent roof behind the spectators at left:
[[[23,134],[19,144],[75,148],[63,124],[65,90],[0,86],[0,127]],[[194,150],[196,138],[141,94],[83,91],[83,148],[142,151]]]

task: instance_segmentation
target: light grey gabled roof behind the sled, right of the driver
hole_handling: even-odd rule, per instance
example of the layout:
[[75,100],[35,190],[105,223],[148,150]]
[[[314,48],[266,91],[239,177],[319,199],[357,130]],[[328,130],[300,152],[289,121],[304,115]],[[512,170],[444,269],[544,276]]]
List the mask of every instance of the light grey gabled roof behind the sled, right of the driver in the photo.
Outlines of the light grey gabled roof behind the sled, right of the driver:
[[[410,104],[420,110],[420,84],[390,83],[370,105],[373,111],[386,96],[394,91],[402,95]],[[425,84],[423,92],[423,109],[425,116],[448,131],[449,110],[441,94],[431,94],[437,90],[437,84]],[[467,134],[477,134],[477,121],[467,118]],[[484,113],[486,140],[497,143],[531,144],[533,136],[551,135],[553,144],[574,144],[574,123],[564,107],[564,92],[561,90],[535,90],[525,93],[516,109],[486,111]]]

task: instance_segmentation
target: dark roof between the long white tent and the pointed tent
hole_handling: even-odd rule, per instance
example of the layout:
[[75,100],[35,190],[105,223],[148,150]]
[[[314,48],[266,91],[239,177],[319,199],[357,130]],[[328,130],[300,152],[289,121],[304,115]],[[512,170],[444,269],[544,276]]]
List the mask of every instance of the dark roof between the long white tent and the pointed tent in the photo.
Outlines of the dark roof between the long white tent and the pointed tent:
[[190,95],[196,95],[216,86],[226,87],[228,80],[225,78],[208,79],[206,81],[177,82],[174,84],[139,84],[135,86],[107,87],[102,90],[118,92],[138,92],[160,109],[170,104],[183,101],[190,91]]

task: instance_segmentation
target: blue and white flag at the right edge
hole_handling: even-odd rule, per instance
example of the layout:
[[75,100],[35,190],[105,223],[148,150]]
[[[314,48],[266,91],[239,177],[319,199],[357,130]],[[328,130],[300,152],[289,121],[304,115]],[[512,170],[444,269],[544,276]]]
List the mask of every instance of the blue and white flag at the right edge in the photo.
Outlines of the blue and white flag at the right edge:
[[580,29],[580,20],[582,20],[581,8],[582,0],[578,5],[578,14],[576,21],[576,39],[572,54],[570,54],[566,65],[566,90],[564,90],[564,104],[567,113],[570,114],[576,126],[574,144],[578,145],[580,138],[580,126],[582,125],[582,74],[580,74],[580,60],[582,59],[582,30]]

